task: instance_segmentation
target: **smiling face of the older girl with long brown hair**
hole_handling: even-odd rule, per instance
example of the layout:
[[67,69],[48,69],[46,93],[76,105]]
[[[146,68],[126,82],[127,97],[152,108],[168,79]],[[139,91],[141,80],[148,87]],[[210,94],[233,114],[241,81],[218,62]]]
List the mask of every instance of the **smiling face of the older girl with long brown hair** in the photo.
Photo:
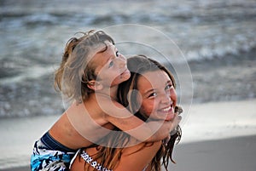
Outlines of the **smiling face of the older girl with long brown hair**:
[[142,104],[140,113],[152,120],[170,121],[175,117],[174,107],[177,103],[176,90],[172,80],[165,71],[148,71],[138,78],[137,89]]

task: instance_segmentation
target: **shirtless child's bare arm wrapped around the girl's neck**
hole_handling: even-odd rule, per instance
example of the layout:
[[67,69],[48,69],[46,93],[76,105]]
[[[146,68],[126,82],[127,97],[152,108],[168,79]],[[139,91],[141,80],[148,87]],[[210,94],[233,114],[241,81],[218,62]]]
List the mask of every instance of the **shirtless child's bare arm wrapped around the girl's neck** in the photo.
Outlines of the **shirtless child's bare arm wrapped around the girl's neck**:
[[164,140],[180,122],[180,119],[175,117],[170,122],[151,121],[145,123],[116,101],[102,99],[100,105],[102,111],[105,112],[105,119],[109,123],[112,123],[139,141],[153,142]]

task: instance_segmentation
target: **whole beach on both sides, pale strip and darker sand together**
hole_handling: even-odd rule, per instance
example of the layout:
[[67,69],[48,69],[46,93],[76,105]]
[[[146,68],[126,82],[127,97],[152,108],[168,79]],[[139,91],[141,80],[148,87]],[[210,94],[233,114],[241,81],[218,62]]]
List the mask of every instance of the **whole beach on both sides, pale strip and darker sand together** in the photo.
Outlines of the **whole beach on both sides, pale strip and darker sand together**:
[[[256,100],[191,106],[174,152],[174,171],[253,171],[256,168]],[[222,112],[223,115],[214,116]],[[208,116],[208,117],[207,117]],[[0,170],[29,170],[32,144],[59,116],[0,121]]]

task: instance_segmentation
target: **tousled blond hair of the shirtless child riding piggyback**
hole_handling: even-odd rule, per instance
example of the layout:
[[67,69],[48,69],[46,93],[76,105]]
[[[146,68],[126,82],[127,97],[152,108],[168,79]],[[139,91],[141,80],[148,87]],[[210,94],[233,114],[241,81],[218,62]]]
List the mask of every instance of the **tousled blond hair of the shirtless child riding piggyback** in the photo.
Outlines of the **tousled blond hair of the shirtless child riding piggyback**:
[[[106,42],[114,44],[114,41],[104,31],[79,33],[82,34],[81,37],[72,37],[67,41],[61,65],[55,71],[55,90],[60,91],[68,100],[81,103],[94,92],[87,86],[90,80],[96,80],[96,66],[91,58],[94,54],[107,50]],[[98,52],[102,45],[105,48]]]

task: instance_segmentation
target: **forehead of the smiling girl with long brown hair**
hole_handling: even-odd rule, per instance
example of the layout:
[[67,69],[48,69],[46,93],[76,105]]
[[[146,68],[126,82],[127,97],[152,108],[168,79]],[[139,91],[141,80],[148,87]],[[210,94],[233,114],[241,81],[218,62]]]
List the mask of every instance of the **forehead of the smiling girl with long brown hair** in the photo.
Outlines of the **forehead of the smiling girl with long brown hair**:
[[141,90],[143,88],[161,88],[162,86],[165,87],[166,83],[169,81],[171,81],[171,78],[166,71],[148,71],[138,78],[137,87]]

